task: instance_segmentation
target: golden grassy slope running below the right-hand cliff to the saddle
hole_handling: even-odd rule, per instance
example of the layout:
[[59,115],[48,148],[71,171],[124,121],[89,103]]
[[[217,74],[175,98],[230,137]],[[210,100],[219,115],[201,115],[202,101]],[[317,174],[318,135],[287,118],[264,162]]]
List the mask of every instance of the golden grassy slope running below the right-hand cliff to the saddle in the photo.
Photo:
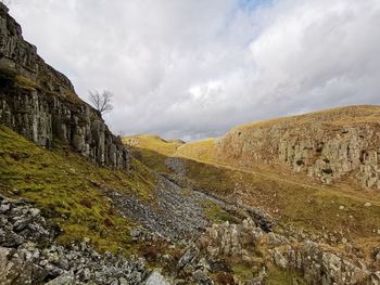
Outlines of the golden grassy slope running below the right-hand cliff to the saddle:
[[[350,109],[357,112],[355,107]],[[338,111],[340,114],[347,112],[347,108]],[[316,113],[313,116],[317,117],[318,114]],[[135,139],[139,140],[136,137]],[[326,186],[303,174],[289,176],[278,172],[277,169],[248,171],[220,165],[214,159],[214,139],[179,147],[165,143],[161,144],[160,150],[155,148],[155,140],[156,137],[150,137],[144,140],[142,148],[136,148],[141,161],[161,172],[169,173],[170,170],[163,167],[167,155],[181,157],[187,165],[186,177],[195,189],[219,193],[232,199],[240,198],[262,207],[277,217],[281,225],[293,225],[317,235],[325,232],[331,232],[337,237],[344,235],[362,246],[380,242],[377,233],[380,229],[380,193],[357,191],[350,181]],[[167,146],[165,151],[162,150],[164,146]],[[371,203],[371,207],[364,206],[367,202]],[[340,209],[341,206],[344,207],[343,210]]]

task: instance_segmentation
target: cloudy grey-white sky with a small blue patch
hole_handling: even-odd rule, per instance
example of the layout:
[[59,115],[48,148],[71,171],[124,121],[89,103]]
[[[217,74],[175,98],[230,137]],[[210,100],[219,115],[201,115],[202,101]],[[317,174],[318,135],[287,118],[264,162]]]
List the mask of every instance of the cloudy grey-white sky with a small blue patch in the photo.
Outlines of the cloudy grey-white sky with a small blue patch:
[[194,140],[380,104],[379,0],[14,0],[11,14],[84,100],[115,94],[116,132]]

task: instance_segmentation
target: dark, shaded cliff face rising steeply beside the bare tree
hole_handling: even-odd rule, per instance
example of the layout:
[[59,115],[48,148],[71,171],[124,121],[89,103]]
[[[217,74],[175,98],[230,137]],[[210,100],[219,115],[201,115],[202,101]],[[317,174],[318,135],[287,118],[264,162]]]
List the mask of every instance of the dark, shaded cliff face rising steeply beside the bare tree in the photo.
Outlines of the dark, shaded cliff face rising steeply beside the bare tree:
[[129,155],[99,112],[47,65],[0,3],[0,124],[41,146],[59,139],[98,165],[127,169]]

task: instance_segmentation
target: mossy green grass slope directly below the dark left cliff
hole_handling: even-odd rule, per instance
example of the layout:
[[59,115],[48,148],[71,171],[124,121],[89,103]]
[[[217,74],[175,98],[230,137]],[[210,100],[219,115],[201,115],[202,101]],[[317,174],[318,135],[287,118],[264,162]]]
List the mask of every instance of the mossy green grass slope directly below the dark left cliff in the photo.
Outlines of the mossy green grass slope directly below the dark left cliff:
[[113,209],[98,183],[148,199],[154,179],[136,159],[129,174],[99,168],[64,147],[43,150],[0,125],[0,193],[17,190],[35,202],[64,230],[61,243],[86,236],[100,250],[129,250],[132,223]]

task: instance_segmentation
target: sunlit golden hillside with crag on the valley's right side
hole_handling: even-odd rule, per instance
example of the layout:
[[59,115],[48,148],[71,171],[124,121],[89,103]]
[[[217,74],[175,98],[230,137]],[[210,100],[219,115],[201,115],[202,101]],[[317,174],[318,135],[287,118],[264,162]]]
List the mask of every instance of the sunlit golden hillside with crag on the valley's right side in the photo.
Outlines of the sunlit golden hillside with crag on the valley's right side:
[[[370,260],[380,243],[380,193],[359,183],[355,169],[326,181],[307,176],[304,168],[318,164],[318,159],[330,159],[324,163],[335,171],[339,163],[370,153],[378,143],[379,111],[378,106],[328,109],[249,124],[221,138],[180,145],[157,135],[128,137],[123,141],[132,141],[135,157],[178,184],[270,213],[277,223],[275,232],[293,233],[338,248],[345,247],[349,241]],[[305,151],[311,155],[302,152],[299,156],[297,150],[303,150],[300,145],[305,141],[309,145]],[[318,142],[324,145],[321,150],[316,148]],[[288,160],[282,161],[279,150],[286,143],[295,150],[292,159],[307,163],[295,164],[299,168],[294,169]],[[349,154],[346,146],[352,148]],[[342,148],[345,152],[339,151]],[[355,163],[366,165],[369,160],[358,157],[352,167]]]

